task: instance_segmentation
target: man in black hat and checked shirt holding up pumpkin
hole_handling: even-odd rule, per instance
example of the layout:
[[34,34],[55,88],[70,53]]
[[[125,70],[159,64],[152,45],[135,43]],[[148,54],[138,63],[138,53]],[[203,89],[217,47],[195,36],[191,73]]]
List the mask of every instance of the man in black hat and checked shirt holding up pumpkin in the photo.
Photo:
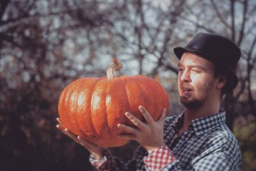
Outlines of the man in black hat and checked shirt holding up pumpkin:
[[98,170],[241,170],[237,140],[220,112],[223,94],[237,85],[235,68],[241,52],[227,38],[199,33],[186,47],[174,48],[179,61],[178,88],[185,110],[165,118],[165,109],[154,121],[147,109],[139,107],[146,122],[129,112],[125,115],[136,128],[118,124],[140,147],[128,163],[114,158],[108,149],[86,142],[64,128],[58,128],[92,154]]

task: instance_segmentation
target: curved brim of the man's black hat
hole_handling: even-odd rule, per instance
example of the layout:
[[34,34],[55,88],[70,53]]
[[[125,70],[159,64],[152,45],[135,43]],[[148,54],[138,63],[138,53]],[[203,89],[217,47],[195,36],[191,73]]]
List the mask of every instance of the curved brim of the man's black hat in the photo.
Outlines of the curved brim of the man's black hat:
[[223,64],[221,63],[221,61],[214,61],[214,57],[212,57],[210,54],[206,54],[204,52],[200,52],[198,50],[193,50],[193,49],[189,49],[187,47],[175,47],[173,48],[174,54],[178,59],[181,59],[182,54],[184,54],[184,52],[192,52],[195,54],[198,54],[198,56],[203,57],[204,59],[211,61],[212,63],[219,63],[222,64],[223,66],[225,66],[225,71],[227,72],[227,77],[226,77],[226,84],[223,87],[225,92],[229,92],[232,91],[237,83],[238,83],[238,78],[236,76],[236,72],[234,70],[232,70],[232,68],[230,68],[227,64]]

